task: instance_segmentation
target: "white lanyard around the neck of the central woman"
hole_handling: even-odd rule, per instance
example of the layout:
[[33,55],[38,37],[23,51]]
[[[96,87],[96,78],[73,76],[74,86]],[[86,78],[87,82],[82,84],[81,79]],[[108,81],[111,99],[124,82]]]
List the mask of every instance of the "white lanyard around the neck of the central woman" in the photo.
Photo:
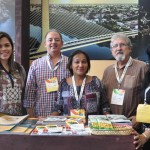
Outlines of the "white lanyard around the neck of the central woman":
[[80,94],[78,95],[75,79],[74,79],[74,76],[72,76],[72,83],[73,83],[73,89],[74,89],[76,101],[80,101],[81,98],[82,98],[83,90],[84,90],[84,87],[85,87],[85,81],[86,81],[86,77],[84,78],[84,80],[82,82]]

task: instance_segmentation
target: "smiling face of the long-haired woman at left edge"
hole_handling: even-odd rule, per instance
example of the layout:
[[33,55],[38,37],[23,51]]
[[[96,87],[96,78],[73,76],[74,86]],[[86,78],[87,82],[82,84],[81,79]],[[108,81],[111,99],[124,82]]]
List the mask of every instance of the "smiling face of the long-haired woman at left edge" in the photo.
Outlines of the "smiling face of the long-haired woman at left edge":
[[12,45],[6,37],[0,39],[0,61],[8,61],[12,54]]

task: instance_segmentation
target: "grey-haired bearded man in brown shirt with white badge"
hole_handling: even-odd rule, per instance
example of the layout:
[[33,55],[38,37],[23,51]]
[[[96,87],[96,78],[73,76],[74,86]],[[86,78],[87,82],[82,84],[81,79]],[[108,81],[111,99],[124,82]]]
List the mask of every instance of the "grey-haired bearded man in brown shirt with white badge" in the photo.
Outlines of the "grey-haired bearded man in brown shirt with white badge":
[[110,48],[116,64],[105,69],[102,82],[111,112],[131,118],[133,126],[137,128],[135,115],[138,104],[142,103],[141,83],[147,65],[130,56],[132,43],[124,33],[115,33],[112,36]]

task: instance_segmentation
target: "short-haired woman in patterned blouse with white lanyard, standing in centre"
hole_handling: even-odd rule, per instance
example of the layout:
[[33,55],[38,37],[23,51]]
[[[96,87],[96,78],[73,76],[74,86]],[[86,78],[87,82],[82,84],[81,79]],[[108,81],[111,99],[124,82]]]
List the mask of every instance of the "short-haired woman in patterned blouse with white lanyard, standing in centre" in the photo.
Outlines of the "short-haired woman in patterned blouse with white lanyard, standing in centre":
[[85,110],[85,115],[109,113],[106,96],[101,81],[96,76],[89,76],[89,56],[77,50],[71,54],[67,68],[72,77],[60,83],[57,98],[57,111],[70,115],[70,110]]

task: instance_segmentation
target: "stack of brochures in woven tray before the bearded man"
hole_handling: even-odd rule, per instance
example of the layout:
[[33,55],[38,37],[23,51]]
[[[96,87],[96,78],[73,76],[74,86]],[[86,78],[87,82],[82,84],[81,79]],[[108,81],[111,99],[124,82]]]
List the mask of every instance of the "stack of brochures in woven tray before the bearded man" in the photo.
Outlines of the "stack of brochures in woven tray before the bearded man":
[[132,124],[124,115],[89,115],[88,125],[93,134],[131,134]]

